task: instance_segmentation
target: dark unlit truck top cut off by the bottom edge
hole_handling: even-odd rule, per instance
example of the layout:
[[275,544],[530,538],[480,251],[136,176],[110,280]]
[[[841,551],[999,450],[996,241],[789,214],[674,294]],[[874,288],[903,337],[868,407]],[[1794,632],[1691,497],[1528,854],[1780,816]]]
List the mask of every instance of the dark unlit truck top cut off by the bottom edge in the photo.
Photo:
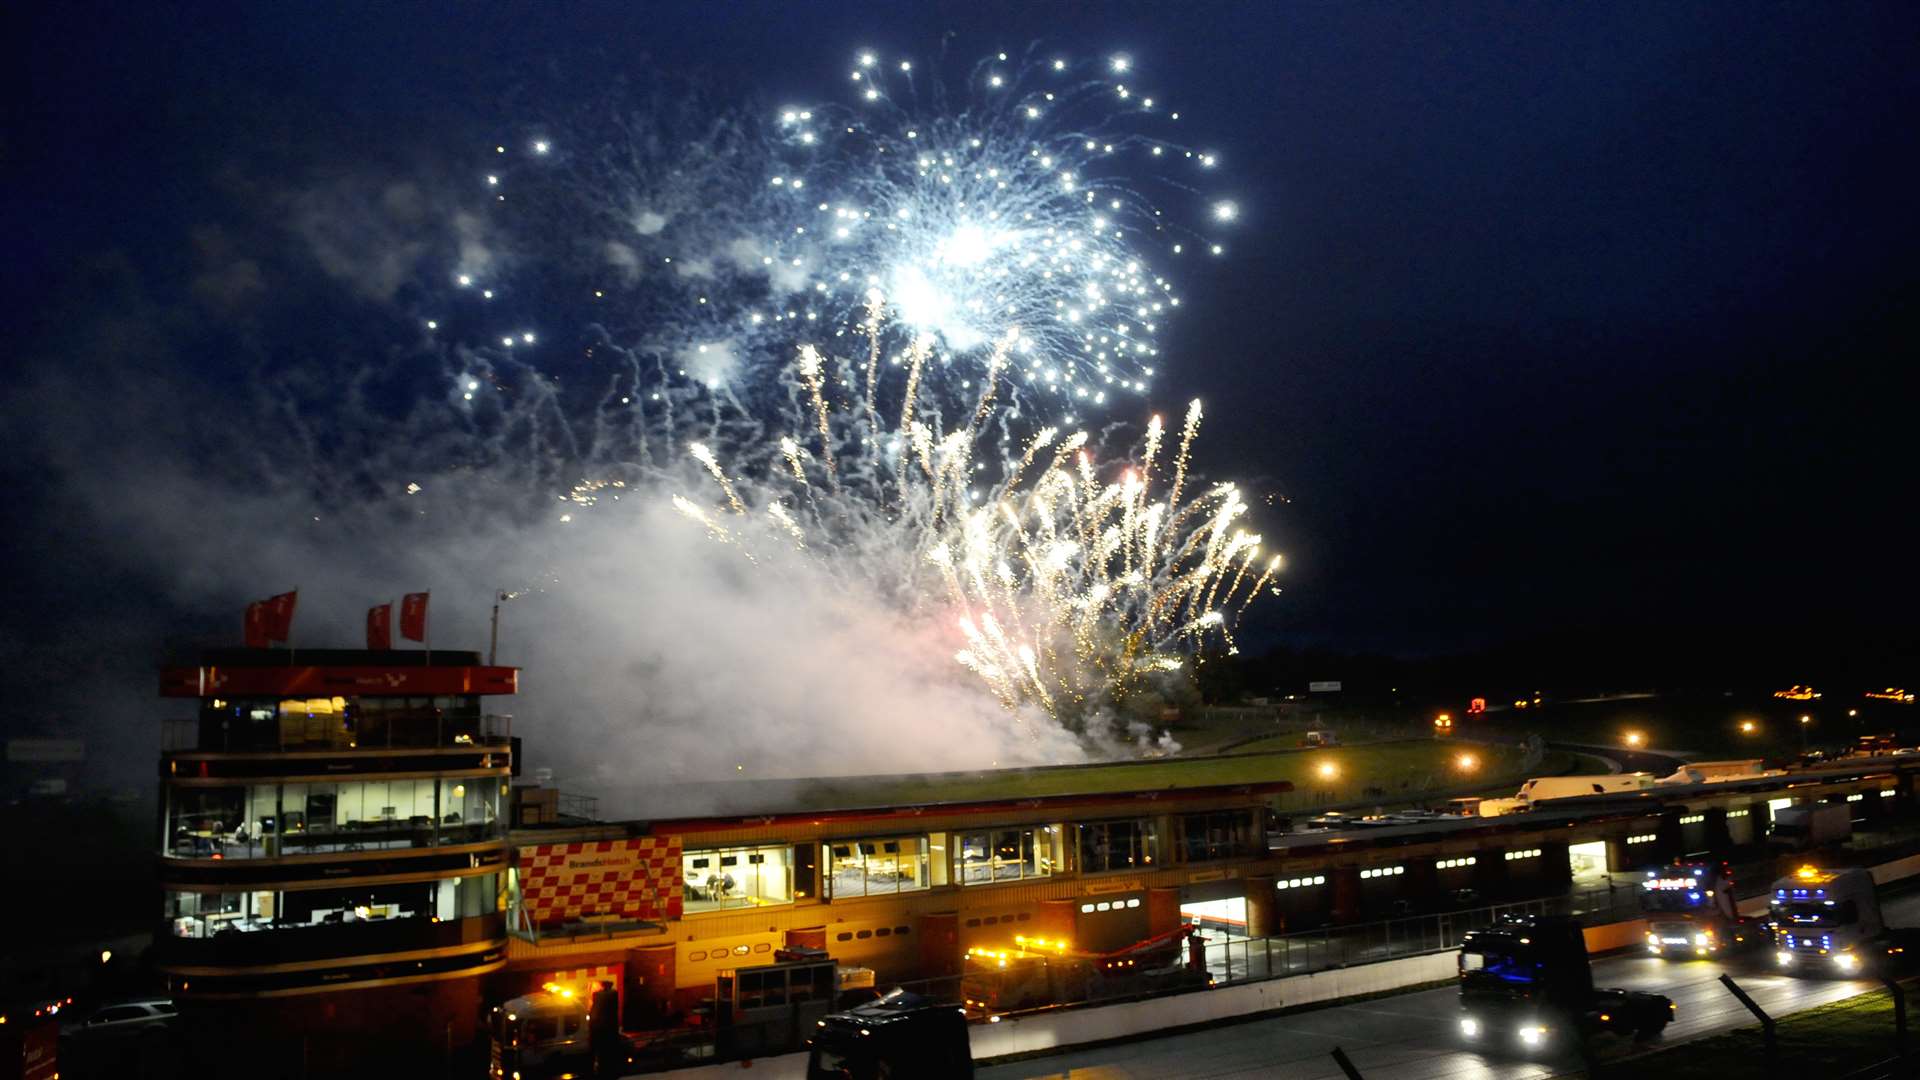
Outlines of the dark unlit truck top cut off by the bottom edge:
[[816,1024],[806,1080],[973,1080],[966,1013],[956,1005],[889,990]]

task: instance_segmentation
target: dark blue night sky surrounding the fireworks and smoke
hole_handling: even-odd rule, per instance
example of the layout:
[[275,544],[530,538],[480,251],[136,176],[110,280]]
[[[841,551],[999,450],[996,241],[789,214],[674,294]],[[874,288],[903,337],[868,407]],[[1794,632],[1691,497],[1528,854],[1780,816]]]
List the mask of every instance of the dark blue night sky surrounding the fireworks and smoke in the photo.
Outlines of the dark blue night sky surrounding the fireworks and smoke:
[[[221,382],[202,229],[261,177],[445,169],[622,69],[837,90],[856,48],[1137,58],[1223,156],[1229,258],[1181,277],[1158,404],[1290,555],[1261,644],[1751,657],[1914,682],[1920,12],[1912,4],[27,4],[0,133],[23,369]],[[205,348],[115,356],[138,281]],[[125,288],[123,284],[115,288]],[[290,288],[286,281],[271,288]],[[125,311],[121,311],[125,315]],[[115,338],[119,340],[119,338]],[[284,348],[265,346],[269,352]],[[8,448],[10,665],[154,590]],[[86,434],[119,438],[119,417]],[[25,442],[25,444],[19,444]],[[79,461],[79,463],[77,463]],[[217,509],[207,511],[217,527]],[[265,586],[263,586],[265,592]],[[205,613],[179,613],[180,623]],[[165,613],[157,619],[167,625]],[[52,642],[52,644],[50,644]],[[146,669],[119,646],[115,665]],[[1617,646],[1617,653],[1609,651]],[[54,651],[50,651],[54,650]],[[65,650],[65,651],[60,651]],[[15,680],[10,711],[44,713]]]

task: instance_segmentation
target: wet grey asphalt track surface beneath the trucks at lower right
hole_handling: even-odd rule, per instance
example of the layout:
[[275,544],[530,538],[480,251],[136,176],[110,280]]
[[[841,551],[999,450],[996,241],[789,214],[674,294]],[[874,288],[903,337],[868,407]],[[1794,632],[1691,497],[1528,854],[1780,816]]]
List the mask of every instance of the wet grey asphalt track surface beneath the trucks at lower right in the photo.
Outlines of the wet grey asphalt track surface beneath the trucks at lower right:
[[[1920,926],[1920,894],[1885,897],[1887,922]],[[1720,986],[1732,972],[1740,986],[1768,1013],[1784,1017],[1841,997],[1874,990],[1868,980],[1789,978],[1774,974],[1766,949],[1716,961],[1663,961],[1657,957],[1613,957],[1594,965],[1597,986],[1653,990],[1674,999],[1674,1022],[1667,1042],[1741,1028],[1753,1022],[1734,995]],[[1269,1020],[1229,1024],[1119,1043],[1100,1049],[1039,1057],[1016,1065],[981,1068],[979,1080],[1164,1080],[1164,1078],[1240,1078],[1288,1076],[1300,1080],[1342,1080],[1332,1063],[1332,1047],[1344,1047],[1367,1080],[1538,1080],[1578,1068],[1576,1057],[1490,1057],[1461,1049],[1459,995],[1453,988],[1377,997],[1354,1005],[1292,1013]],[[1601,1057],[1624,1053],[1626,1043],[1603,1045]]]

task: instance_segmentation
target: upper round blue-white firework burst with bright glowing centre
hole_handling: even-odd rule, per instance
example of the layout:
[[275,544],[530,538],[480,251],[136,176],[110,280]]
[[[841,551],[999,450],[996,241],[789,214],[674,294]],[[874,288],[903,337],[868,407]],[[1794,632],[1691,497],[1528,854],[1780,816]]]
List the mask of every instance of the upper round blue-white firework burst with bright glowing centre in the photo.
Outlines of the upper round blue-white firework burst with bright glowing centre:
[[[1181,298],[1156,267],[1188,248],[1221,254],[1173,225],[1146,190],[1177,202],[1215,156],[1173,140],[1179,111],[1127,83],[1054,56],[996,54],[973,67],[956,108],[912,61],[862,52],[849,108],[783,110],[793,169],[768,179],[803,221],[780,259],[810,267],[812,302],[852,325],[879,292],[902,336],[935,350],[931,373],[962,388],[998,327],[1021,327],[1008,357],[1020,388],[1068,409],[1144,392],[1158,332]],[[1175,181],[1181,171],[1190,175]],[[1213,227],[1233,221],[1215,204]],[[1179,215],[1175,215],[1177,219]],[[1196,242],[1198,240],[1198,242]],[[772,261],[772,259],[770,259]]]

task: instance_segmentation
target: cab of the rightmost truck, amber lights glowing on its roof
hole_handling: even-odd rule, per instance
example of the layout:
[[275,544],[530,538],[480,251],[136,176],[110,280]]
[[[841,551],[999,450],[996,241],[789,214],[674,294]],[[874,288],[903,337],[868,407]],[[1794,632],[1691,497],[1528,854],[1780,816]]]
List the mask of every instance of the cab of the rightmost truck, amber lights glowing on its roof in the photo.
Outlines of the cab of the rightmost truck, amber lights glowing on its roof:
[[1793,974],[1855,974],[1882,938],[1874,874],[1860,867],[1801,867],[1774,882],[1768,901],[1774,963]]

